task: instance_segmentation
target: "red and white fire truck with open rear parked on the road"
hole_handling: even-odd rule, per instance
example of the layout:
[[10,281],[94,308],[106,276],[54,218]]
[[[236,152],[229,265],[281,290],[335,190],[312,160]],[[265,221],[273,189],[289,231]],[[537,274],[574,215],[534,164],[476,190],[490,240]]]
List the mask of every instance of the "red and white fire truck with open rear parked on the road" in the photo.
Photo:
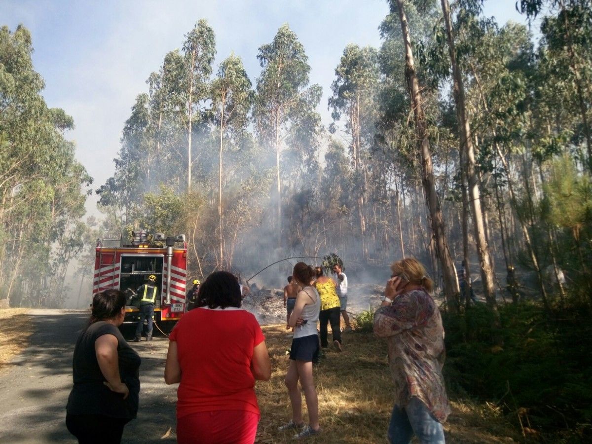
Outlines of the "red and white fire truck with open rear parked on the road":
[[126,292],[124,324],[137,323],[140,310],[132,305],[134,293],[148,276],[155,275],[160,288],[155,321],[161,329],[170,330],[186,310],[187,243],[184,234],[166,237],[157,233],[149,238],[141,230],[132,232],[131,244],[97,239],[92,294],[110,288]]

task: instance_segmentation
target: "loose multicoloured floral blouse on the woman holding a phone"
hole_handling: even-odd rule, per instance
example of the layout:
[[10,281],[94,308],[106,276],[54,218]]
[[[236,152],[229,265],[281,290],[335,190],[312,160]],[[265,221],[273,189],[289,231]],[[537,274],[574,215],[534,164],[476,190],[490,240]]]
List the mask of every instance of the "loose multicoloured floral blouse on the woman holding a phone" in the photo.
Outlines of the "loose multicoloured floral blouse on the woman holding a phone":
[[450,406],[442,377],[444,329],[432,297],[423,288],[398,295],[374,314],[374,333],[388,342],[395,404],[406,406],[416,396],[445,422]]

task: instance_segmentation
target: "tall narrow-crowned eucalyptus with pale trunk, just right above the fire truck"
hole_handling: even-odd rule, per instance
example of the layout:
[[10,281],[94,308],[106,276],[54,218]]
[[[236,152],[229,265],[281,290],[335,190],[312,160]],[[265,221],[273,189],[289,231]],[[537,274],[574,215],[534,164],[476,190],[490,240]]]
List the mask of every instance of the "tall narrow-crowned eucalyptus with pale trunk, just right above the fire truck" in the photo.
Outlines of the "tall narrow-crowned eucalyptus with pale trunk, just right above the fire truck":
[[202,18],[188,34],[185,34],[183,52],[185,57],[183,98],[187,110],[185,122],[187,128],[187,192],[189,194],[191,193],[192,128],[195,114],[201,113],[200,101],[207,96],[208,81],[216,53],[214,30],[205,19]]

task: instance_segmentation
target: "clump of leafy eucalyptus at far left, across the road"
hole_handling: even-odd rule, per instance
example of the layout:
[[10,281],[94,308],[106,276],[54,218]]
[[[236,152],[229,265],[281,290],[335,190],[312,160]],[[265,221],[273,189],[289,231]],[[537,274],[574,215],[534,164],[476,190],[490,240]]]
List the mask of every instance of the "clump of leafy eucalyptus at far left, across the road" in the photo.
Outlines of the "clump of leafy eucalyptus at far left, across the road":
[[[26,28],[0,28],[0,298],[16,302],[27,287],[51,281],[52,257],[66,253],[92,181],[64,137],[72,118],[41,95],[32,52]],[[37,273],[27,272],[32,263],[41,265]]]

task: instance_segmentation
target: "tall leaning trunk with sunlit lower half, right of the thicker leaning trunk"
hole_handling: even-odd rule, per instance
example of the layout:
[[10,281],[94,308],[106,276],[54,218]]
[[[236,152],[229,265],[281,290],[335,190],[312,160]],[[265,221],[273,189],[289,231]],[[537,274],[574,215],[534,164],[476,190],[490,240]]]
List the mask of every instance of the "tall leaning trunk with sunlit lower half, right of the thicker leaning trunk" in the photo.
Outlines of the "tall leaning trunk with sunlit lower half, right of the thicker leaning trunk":
[[[479,190],[479,179],[475,167],[475,152],[471,137],[471,125],[466,112],[465,88],[462,82],[462,73],[456,63],[454,38],[452,36],[452,24],[448,0],[441,0],[444,21],[446,23],[446,36],[448,38],[448,50],[450,54],[452,73],[454,79],[454,98],[456,102],[456,115],[461,130],[461,146],[466,155],[466,175],[469,185],[471,213],[475,229],[475,241],[477,242],[477,254],[481,268],[481,280],[485,300],[490,307],[496,306],[496,293],[493,282],[493,267],[491,264],[491,253],[485,239],[485,226],[481,210],[481,196]],[[462,168],[462,166],[461,166]]]

